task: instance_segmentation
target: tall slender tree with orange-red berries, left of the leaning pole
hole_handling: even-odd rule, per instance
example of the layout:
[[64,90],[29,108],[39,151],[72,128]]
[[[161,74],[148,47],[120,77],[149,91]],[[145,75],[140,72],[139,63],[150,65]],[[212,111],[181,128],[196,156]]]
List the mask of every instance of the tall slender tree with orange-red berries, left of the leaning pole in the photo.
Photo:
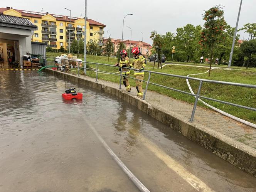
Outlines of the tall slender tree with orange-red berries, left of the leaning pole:
[[[203,19],[205,20],[204,29],[202,30],[201,40],[199,42],[202,47],[208,47],[210,51],[210,69],[209,76],[211,74],[212,66],[212,53],[219,37],[223,34],[223,30],[226,28],[226,21],[224,20],[223,6],[216,5],[204,12]],[[203,49],[203,48],[200,49]]]

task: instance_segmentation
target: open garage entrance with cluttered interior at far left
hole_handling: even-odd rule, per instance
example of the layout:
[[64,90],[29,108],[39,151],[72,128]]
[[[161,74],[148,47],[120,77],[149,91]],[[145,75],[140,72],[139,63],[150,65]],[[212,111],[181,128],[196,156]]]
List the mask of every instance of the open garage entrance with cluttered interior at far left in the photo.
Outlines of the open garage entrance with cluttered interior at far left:
[[0,39],[0,68],[18,68],[20,63],[19,41]]

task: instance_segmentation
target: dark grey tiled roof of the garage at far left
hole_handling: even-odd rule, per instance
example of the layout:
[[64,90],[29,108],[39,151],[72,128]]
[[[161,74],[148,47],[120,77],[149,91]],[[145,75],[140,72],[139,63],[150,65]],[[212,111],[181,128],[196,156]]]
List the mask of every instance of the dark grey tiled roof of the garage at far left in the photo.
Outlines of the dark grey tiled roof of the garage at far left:
[[[13,25],[19,25],[25,27],[32,27],[35,29],[37,28],[37,26],[32,24],[28,19],[3,14],[0,14],[0,24],[11,24],[12,27],[14,27]],[[5,26],[8,27],[7,25]]]

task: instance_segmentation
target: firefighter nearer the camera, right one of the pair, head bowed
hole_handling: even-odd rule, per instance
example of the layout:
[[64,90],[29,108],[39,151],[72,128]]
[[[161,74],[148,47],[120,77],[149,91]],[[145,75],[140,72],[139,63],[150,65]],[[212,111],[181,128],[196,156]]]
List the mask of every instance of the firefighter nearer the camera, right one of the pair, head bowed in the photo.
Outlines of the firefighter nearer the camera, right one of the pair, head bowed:
[[130,67],[133,67],[134,69],[138,69],[134,71],[134,76],[136,78],[136,89],[137,89],[137,96],[142,98],[143,96],[143,89],[142,89],[142,81],[144,78],[144,72],[146,66],[146,59],[143,57],[143,55],[140,53],[140,50],[138,47],[134,47],[131,50],[131,53],[134,56],[133,62],[130,64]]

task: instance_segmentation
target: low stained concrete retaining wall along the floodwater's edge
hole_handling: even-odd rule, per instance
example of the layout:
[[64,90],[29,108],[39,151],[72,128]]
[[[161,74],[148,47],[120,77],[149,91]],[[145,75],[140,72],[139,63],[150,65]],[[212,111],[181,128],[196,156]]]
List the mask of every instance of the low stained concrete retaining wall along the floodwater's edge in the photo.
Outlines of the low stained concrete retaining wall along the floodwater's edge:
[[140,109],[141,111],[152,116],[156,120],[164,123],[173,130],[181,133],[190,140],[198,143],[202,147],[207,148],[217,156],[240,168],[244,172],[256,177],[256,150],[239,141],[233,140],[217,131],[211,130],[203,125],[196,125],[189,121],[182,120],[181,117],[174,112],[166,111],[160,106],[142,101],[136,96],[131,95],[125,90],[118,89],[117,86],[105,85],[103,83],[95,82],[91,77],[77,77],[72,74],[67,74],[52,69],[46,69],[46,72],[62,77],[63,79],[73,81],[91,88],[95,88],[105,93],[109,93],[129,102],[131,105]]

